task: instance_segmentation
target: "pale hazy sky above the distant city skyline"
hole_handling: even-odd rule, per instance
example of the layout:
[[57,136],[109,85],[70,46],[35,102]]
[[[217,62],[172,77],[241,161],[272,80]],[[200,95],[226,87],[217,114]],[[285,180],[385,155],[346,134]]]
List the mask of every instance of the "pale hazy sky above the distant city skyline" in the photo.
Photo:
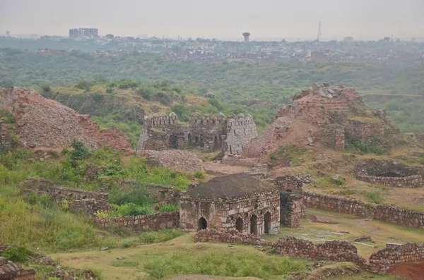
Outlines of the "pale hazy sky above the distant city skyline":
[[[343,4],[342,4],[343,3]],[[242,38],[424,37],[424,0],[0,0],[0,34]]]

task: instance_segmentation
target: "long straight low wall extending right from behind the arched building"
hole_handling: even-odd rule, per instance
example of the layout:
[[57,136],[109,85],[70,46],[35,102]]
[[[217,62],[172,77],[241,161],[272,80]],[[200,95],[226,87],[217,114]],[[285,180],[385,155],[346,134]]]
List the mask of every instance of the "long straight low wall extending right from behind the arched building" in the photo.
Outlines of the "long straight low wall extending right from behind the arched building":
[[303,193],[306,207],[323,209],[358,217],[367,217],[390,224],[400,224],[416,229],[424,229],[424,212],[403,209],[391,205],[374,205],[360,200],[319,193]]

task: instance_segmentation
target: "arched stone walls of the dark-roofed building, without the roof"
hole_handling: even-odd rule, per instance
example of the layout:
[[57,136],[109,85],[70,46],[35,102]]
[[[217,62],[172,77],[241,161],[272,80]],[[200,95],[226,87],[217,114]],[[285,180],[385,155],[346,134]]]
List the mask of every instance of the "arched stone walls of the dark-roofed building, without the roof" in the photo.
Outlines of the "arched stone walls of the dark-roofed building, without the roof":
[[[270,234],[278,232],[280,226],[280,200],[278,190],[254,193],[230,199],[218,197],[194,197],[182,195],[180,198],[180,216],[182,229],[196,231],[199,219],[206,219],[208,229],[235,229],[237,220],[242,232]],[[269,212],[269,223],[265,225],[265,216]],[[253,218],[252,218],[253,217]],[[255,218],[256,217],[256,221]],[[254,229],[251,221],[254,221]]]

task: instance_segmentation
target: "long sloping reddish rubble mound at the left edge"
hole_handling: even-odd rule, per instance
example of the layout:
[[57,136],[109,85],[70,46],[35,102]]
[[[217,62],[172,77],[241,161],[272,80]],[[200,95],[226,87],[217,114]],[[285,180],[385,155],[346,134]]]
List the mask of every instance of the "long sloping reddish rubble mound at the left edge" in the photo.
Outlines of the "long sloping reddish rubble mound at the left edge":
[[23,87],[0,88],[0,109],[13,114],[20,142],[30,148],[61,148],[80,140],[92,149],[130,150],[131,140],[117,129],[102,130],[88,115]]

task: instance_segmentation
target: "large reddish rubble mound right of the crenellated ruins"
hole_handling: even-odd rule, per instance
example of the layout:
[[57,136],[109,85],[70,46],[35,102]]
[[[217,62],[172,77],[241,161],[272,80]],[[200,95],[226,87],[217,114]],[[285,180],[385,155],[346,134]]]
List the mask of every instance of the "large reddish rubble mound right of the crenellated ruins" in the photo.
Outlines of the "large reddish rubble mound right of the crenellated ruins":
[[387,139],[393,134],[385,112],[367,110],[354,88],[313,84],[276,113],[271,126],[245,145],[242,157],[266,162],[272,152],[288,144],[343,150],[345,135],[389,150]]

